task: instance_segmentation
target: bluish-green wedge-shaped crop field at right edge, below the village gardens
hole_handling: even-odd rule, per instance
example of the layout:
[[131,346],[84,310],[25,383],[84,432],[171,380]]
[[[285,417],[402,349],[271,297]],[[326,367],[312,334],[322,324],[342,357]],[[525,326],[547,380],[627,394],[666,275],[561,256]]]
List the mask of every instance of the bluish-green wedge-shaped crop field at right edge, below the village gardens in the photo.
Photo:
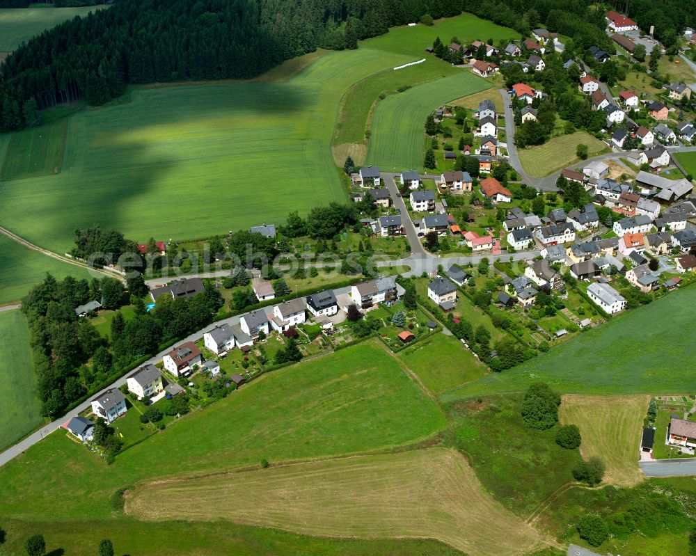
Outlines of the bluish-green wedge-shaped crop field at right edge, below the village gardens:
[[[627,312],[546,354],[446,392],[446,401],[519,392],[544,381],[566,394],[690,394],[696,303],[688,287]],[[650,323],[650,326],[645,326]]]

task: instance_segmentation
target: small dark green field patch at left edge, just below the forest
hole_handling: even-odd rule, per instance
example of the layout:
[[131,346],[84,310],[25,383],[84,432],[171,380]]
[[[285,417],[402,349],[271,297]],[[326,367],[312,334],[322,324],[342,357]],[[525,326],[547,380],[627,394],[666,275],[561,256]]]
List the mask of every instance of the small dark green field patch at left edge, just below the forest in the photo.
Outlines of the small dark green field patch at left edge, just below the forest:
[[63,165],[66,127],[63,120],[12,134],[0,166],[0,181],[58,173]]

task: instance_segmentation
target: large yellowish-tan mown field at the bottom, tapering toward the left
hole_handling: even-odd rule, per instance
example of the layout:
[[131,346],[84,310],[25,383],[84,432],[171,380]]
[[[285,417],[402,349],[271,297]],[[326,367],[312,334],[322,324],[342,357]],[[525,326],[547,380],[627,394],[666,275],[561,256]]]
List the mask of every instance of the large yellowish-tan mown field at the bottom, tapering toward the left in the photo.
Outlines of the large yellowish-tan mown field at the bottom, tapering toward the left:
[[466,460],[432,448],[136,486],[126,512],[229,520],[329,537],[427,537],[467,554],[522,555],[541,537],[482,490]]

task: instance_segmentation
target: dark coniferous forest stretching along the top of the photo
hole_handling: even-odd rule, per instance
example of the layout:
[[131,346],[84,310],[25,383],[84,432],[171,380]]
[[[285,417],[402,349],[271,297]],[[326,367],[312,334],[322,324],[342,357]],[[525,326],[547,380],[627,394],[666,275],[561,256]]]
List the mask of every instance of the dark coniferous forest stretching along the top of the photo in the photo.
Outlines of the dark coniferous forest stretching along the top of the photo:
[[[0,6],[19,0],[0,0]],[[27,0],[29,1],[29,0]],[[62,1],[62,0],[61,0]],[[79,0],[81,1],[81,0]],[[22,1],[19,2],[22,4]],[[255,77],[313,51],[356,48],[390,26],[462,11],[528,35],[546,27],[613,51],[604,10],[589,0],[118,0],[49,29],[0,66],[0,132],[37,110],[99,105],[127,84]],[[617,6],[613,6],[617,7]],[[620,9],[620,8],[619,8]],[[696,26],[696,0],[634,0],[629,15],[674,48]]]

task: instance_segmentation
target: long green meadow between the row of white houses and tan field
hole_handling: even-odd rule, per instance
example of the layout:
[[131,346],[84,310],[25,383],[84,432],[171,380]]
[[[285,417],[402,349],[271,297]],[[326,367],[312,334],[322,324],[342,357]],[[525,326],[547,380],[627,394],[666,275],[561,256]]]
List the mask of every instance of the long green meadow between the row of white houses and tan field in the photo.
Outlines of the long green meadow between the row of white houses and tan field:
[[0,468],[0,514],[109,518],[111,494],[135,482],[255,466],[262,457],[276,463],[404,445],[445,423],[397,361],[369,342],[266,374],[111,466],[52,434]]

